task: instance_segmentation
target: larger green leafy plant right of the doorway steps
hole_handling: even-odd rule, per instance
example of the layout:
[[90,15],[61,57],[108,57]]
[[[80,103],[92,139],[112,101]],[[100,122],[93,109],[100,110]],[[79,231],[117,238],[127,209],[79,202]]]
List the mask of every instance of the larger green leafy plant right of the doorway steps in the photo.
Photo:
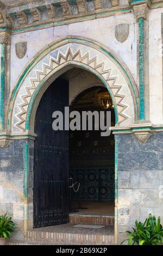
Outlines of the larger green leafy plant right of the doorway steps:
[[135,225],[136,228],[132,228],[133,232],[125,232],[129,235],[129,239],[124,240],[128,241],[128,245],[161,245],[163,242],[163,228],[160,223],[160,217],[156,222],[155,216],[149,214],[145,222],[137,222],[136,220]]

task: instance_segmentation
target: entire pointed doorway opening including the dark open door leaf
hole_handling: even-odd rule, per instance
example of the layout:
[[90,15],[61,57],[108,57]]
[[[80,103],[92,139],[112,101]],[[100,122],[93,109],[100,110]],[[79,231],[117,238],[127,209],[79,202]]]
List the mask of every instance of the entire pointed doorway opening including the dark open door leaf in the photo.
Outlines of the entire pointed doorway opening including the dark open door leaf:
[[92,73],[72,68],[47,88],[35,117],[34,228],[68,223],[74,210],[114,216],[114,135],[53,130],[53,112],[69,105],[70,111],[110,111],[115,125],[108,90]]

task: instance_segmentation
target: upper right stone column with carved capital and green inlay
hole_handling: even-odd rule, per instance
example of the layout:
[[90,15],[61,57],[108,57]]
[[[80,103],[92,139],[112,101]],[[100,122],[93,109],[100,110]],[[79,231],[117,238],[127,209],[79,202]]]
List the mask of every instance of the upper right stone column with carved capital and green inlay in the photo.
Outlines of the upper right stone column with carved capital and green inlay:
[[130,1],[133,5],[136,22],[138,23],[138,70],[139,70],[139,119],[148,120],[149,117],[149,85],[148,85],[148,7],[150,1]]

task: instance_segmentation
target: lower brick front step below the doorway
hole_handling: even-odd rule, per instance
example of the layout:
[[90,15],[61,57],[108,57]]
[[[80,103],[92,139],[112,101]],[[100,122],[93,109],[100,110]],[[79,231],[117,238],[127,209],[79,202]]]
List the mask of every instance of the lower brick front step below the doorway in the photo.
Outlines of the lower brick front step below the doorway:
[[[76,227],[77,226],[77,227]],[[114,225],[84,225],[68,223],[27,231],[26,241],[53,245],[113,245]]]

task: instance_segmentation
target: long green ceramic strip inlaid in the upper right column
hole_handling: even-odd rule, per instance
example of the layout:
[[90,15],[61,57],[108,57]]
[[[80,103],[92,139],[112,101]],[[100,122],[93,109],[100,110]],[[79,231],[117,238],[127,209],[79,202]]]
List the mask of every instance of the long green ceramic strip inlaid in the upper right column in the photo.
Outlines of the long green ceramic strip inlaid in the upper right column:
[[144,19],[139,18],[139,100],[140,120],[145,119]]

